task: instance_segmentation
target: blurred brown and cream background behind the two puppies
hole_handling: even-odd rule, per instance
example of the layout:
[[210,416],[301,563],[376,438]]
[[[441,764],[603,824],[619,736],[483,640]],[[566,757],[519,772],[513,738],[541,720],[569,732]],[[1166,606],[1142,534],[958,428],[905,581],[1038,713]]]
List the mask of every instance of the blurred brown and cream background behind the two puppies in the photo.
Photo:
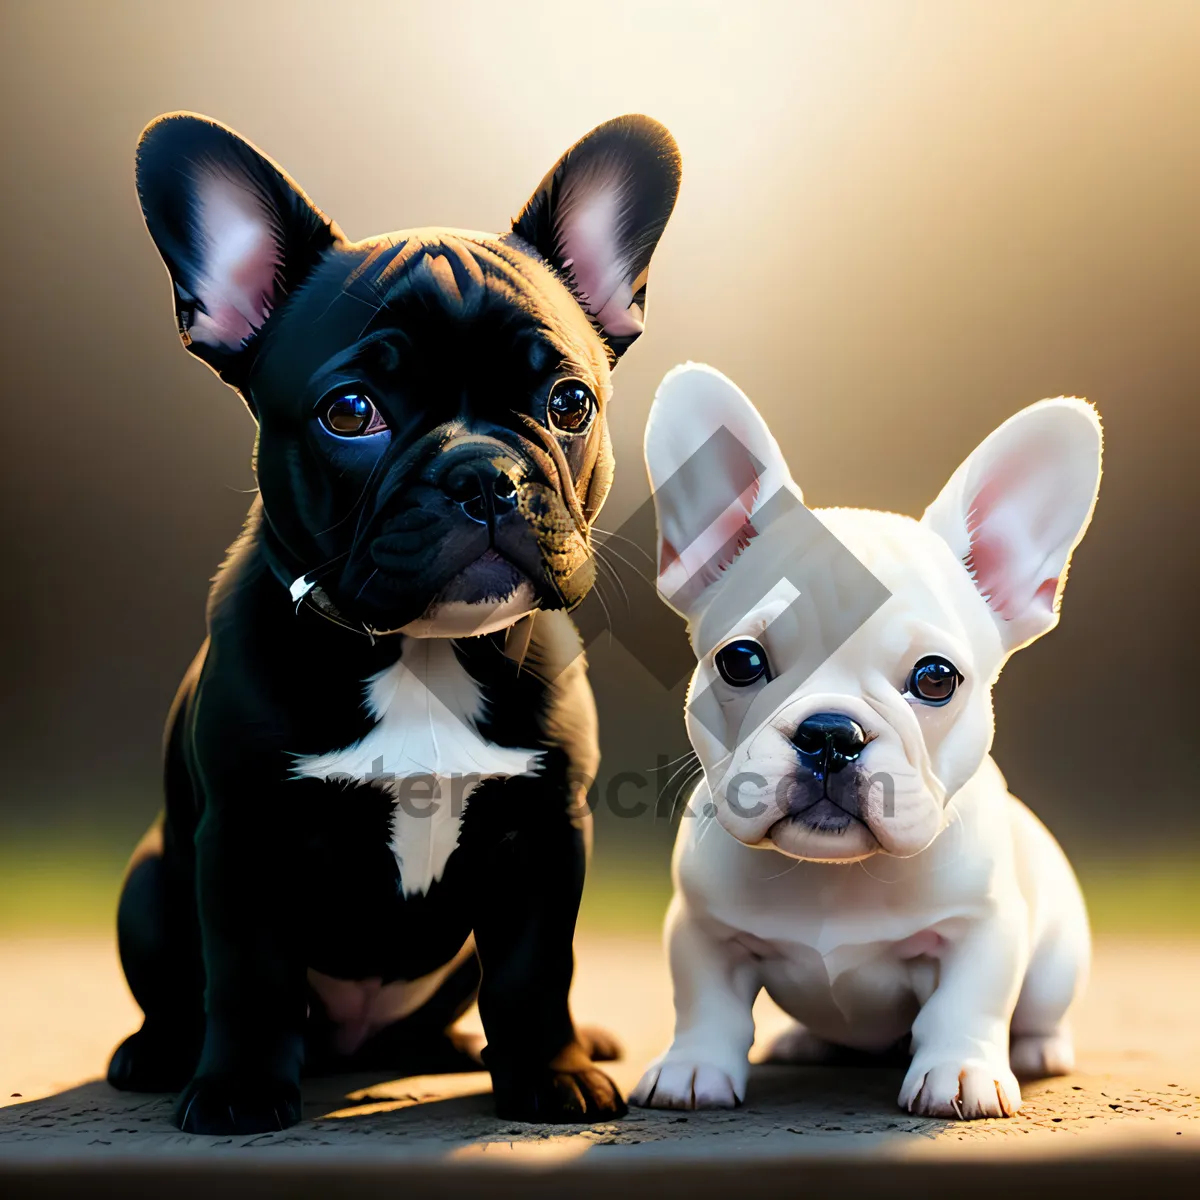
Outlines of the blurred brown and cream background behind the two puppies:
[[[642,426],[683,359],[757,402],[810,503],[914,515],[1015,409],[1094,401],[1096,522],[1062,628],[1001,682],[996,752],[1085,870],[1194,874],[1194,0],[4,0],[0,23],[0,900],[17,920],[89,871],[115,886],[252,486],[250,419],[179,348],[133,192],[138,132],[179,108],[251,138],[350,236],[499,229],[593,125],[665,121],[684,186],[617,374],[607,528],[646,498]],[[606,772],[678,754],[682,692],[616,644],[592,660]],[[602,812],[598,880],[658,896],[670,839]]]

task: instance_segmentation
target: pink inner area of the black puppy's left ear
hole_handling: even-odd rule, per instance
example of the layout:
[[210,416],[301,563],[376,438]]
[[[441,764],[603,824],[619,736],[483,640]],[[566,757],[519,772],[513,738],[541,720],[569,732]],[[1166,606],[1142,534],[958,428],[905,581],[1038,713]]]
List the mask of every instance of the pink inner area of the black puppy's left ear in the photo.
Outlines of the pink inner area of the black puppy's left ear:
[[204,175],[196,194],[200,274],[188,329],[193,342],[235,350],[276,299],[282,248],[262,200],[222,175]]

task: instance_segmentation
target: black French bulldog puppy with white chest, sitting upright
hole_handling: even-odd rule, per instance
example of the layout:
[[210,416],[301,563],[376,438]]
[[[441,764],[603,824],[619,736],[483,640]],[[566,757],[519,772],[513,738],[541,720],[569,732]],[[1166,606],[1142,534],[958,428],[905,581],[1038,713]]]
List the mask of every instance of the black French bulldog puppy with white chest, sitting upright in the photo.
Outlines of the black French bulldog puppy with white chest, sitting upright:
[[[502,235],[350,242],[269,158],[158,119],[137,182],[184,344],[258,424],[133,856],[118,1087],[180,1128],[300,1117],[301,1067],[437,1070],[479,997],[498,1112],[619,1116],[568,1008],[595,708],[568,611],[671,136],[594,130]],[[535,614],[535,616],[534,616]]]

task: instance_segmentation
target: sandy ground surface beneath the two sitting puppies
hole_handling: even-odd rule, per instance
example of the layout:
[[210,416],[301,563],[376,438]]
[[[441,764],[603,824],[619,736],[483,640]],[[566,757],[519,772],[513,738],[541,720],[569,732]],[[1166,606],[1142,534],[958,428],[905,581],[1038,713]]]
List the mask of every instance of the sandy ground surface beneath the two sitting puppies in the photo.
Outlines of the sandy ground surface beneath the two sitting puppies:
[[[626,1090],[671,1032],[667,972],[652,940],[589,936],[578,944],[575,1010],[624,1040],[612,1073]],[[498,1121],[482,1074],[311,1081],[305,1121],[277,1134],[188,1138],[169,1097],[122,1094],[98,1081],[138,1012],[104,938],[0,941],[0,1160],[115,1156],[402,1157],[419,1163],[557,1163],[613,1156],[953,1156],[1003,1150],[1091,1154],[1120,1147],[1200,1152],[1200,943],[1100,942],[1079,1013],[1080,1070],[1026,1085],[1009,1120],[952,1122],[895,1108],[901,1072],[756,1068],[733,1112],[664,1114],[590,1128]],[[758,1007],[760,1045],[785,1018]],[[468,1022],[475,1020],[469,1014]],[[242,1160],[245,1158],[242,1157]]]

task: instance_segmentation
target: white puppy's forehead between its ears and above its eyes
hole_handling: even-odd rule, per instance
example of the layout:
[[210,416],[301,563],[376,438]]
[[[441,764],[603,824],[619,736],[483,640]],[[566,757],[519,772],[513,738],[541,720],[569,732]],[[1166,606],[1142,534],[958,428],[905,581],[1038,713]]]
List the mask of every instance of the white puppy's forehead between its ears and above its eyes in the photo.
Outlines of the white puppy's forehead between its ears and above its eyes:
[[797,506],[761,529],[713,590],[692,630],[697,656],[731,636],[766,636],[805,674],[868,623],[901,640],[920,624],[956,640],[979,632],[978,595],[949,547],[892,514]]

